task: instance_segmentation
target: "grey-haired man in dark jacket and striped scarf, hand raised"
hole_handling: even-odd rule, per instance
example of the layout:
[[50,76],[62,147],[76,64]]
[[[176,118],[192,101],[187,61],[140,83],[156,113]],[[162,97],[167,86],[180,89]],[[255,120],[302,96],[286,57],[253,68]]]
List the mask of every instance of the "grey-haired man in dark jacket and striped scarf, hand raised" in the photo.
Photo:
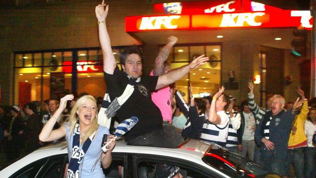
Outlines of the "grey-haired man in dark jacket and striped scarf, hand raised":
[[255,141],[260,146],[261,162],[269,172],[285,174],[287,142],[291,126],[303,100],[296,100],[292,109],[285,111],[285,99],[274,95],[271,110],[263,115],[255,131]]

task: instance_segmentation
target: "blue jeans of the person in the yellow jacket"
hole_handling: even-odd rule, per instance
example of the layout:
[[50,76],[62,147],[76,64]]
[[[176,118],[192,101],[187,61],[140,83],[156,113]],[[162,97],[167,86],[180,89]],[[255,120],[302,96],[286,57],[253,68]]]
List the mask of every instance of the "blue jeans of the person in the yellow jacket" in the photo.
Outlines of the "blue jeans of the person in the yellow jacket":
[[293,164],[296,178],[304,178],[304,147],[287,149],[285,176],[290,177],[290,168]]

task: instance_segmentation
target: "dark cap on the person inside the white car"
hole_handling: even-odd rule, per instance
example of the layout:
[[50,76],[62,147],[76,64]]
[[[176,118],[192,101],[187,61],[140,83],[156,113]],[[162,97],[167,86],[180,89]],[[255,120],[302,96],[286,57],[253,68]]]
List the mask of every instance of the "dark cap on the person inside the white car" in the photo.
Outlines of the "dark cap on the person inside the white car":
[[180,172],[180,168],[170,164],[157,163],[155,174],[157,178],[174,178]]

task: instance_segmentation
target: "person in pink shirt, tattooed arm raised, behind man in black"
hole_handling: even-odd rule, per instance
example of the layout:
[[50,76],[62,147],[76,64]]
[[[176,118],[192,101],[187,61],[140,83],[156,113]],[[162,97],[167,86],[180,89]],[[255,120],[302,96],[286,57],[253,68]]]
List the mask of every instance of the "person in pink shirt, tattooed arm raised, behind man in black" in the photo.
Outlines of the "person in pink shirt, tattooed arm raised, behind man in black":
[[[172,47],[176,44],[178,38],[169,36],[167,44],[159,51],[155,60],[155,68],[150,72],[151,76],[159,76],[171,70],[171,65],[167,62],[167,58]],[[169,86],[159,89],[157,92],[152,92],[151,97],[155,105],[160,109],[163,121],[172,123],[173,110],[171,107],[171,90]]]

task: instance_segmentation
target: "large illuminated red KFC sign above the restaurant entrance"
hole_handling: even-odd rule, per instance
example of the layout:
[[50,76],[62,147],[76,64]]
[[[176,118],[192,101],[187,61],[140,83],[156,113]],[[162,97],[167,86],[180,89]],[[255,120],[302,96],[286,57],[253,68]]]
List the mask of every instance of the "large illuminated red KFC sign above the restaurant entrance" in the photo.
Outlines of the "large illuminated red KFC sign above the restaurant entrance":
[[[180,4],[179,4],[180,3]],[[164,3],[165,4],[165,3]],[[156,12],[158,6],[156,4]],[[180,6],[175,7],[176,5]],[[218,28],[312,28],[310,11],[282,10],[249,0],[212,0],[201,2],[178,2],[163,11],[172,15],[125,17],[126,32],[152,30],[199,30]],[[208,8],[205,8],[208,7]],[[180,10],[179,10],[180,9]],[[178,11],[181,14],[178,14]],[[197,12],[197,13],[195,13]]]

